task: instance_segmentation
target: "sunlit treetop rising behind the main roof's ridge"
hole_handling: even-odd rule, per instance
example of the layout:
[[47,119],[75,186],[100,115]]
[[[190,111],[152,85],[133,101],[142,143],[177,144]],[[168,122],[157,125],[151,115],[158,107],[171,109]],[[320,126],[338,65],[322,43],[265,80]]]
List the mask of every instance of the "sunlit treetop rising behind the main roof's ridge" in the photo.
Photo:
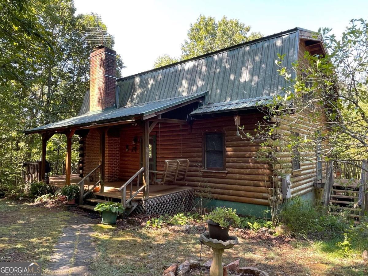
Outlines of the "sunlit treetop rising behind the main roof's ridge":
[[185,39],[181,44],[180,59],[164,54],[157,58],[154,68],[262,37],[259,32],[249,33],[250,29],[251,26],[245,25],[238,19],[227,19],[223,16],[219,21],[216,21],[215,17],[206,17],[201,14],[194,24],[190,24],[187,33],[188,39]]

